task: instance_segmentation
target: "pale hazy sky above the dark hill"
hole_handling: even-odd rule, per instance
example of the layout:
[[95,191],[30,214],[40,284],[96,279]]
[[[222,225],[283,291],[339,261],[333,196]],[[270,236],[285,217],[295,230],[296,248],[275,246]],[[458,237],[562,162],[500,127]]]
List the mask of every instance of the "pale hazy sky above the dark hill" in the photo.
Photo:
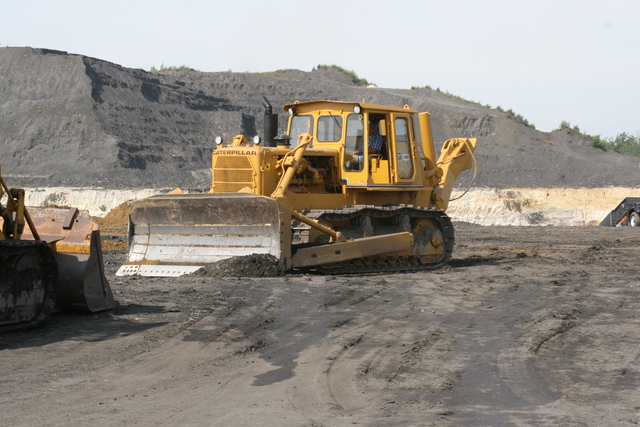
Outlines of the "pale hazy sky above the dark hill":
[[640,132],[638,0],[0,0],[0,11],[0,46],[145,70],[336,64],[380,87],[512,109],[542,131]]

